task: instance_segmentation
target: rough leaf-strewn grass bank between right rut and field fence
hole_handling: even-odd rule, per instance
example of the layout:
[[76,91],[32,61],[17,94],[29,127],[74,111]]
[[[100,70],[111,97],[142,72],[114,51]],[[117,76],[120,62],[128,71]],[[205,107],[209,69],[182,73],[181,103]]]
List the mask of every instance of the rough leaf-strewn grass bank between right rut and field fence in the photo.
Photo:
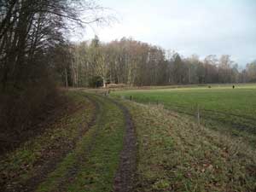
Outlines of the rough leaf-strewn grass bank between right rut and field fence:
[[163,108],[124,101],[137,129],[137,191],[255,191],[255,150]]

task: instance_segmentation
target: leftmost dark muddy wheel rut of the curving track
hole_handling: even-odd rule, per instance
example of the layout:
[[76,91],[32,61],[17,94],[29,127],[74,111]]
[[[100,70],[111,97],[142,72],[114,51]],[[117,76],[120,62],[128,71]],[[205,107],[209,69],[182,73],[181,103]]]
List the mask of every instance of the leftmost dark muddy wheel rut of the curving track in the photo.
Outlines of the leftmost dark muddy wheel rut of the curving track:
[[[84,96],[84,95],[83,95]],[[86,131],[88,131],[92,126],[96,125],[96,119],[100,114],[100,105],[90,96],[84,96],[95,106],[92,119],[87,123],[87,125],[79,125],[79,135],[73,140],[73,143],[61,150],[56,151],[55,155],[51,158],[48,158],[46,161],[39,162],[35,167],[35,174],[33,177],[26,180],[25,183],[19,183],[14,188],[5,189],[4,191],[19,191],[19,192],[30,192],[35,191],[38,185],[44,182],[44,179],[49,175],[50,172],[53,172],[56,166],[63,160],[67,154],[70,153],[75,147],[76,143],[83,137]],[[85,127],[85,128],[84,128]]]

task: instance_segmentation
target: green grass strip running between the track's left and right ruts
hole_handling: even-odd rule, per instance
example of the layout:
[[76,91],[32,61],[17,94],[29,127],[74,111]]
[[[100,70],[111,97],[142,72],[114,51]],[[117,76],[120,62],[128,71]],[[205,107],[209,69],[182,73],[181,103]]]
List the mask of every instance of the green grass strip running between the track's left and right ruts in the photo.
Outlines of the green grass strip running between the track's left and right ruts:
[[[96,125],[84,135],[77,148],[67,155],[55,172],[49,174],[38,191],[112,191],[123,145],[124,114],[112,102],[101,96],[94,97],[102,106]],[[72,177],[67,177],[68,172],[73,172]],[[66,183],[63,179],[67,180]]]

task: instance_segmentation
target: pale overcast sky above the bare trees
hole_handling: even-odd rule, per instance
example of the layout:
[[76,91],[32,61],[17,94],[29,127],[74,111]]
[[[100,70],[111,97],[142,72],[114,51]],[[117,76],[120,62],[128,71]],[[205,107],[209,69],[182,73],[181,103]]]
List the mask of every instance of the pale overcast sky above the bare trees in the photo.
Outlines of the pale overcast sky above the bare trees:
[[[119,22],[96,28],[102,41],[131,37],[184,56],[256,59],[256,0],[100,0]],[[93,38],[87,30],[80,40]]]

